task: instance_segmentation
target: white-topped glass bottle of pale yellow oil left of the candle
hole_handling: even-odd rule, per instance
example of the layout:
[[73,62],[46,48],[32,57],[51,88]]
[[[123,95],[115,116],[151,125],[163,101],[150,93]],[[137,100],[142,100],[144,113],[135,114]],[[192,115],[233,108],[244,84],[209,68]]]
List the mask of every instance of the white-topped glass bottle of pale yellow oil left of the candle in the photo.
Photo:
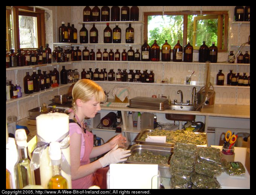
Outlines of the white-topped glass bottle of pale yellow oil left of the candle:
[[22,189],[27,185],[35,184],[34,172],[30,170],[30,160],[27,155],[27,135],[25,129],[15,131],[18,148],[18,161],[14,166],[16,188]]

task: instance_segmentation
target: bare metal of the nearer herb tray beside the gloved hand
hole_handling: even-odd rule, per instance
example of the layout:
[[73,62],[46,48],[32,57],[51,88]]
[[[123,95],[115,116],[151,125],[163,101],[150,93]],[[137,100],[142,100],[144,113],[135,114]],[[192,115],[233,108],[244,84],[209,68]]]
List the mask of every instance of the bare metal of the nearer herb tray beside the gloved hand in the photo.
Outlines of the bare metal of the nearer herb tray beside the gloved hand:
[[[150,151],[155,155],[172,155],[173,154],[173,147],[162,147],[162,146],[154,146],[154,145],[141,145],[141,144],[135,144],[132,145],[131,148],[131,154],[139,153],[142,154],[144,151]],[[127,164],[153,164],[153,163],[145,163],[140,161],[131,161],[126,160],[125,163]],[[164,164],[158,164],[158,170],[160,171],[161,177],[171,178],[171,173],[169,171],[170,165],[164,165]]]

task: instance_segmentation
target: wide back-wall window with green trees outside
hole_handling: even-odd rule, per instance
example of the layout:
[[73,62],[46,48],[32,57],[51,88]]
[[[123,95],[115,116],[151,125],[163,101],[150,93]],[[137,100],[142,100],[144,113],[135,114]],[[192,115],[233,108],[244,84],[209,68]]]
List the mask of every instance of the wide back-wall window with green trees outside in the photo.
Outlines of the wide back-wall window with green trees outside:
[[151,46],[157,40],[159,46],[168,40],[173,48],[180,40],[184,47],[188,41],[199,49],[206,41],[207,46],[212,42],[219,51],[227,51],[228,21],[227,11],[183,11],[183,12],[144,12],[144,39]]

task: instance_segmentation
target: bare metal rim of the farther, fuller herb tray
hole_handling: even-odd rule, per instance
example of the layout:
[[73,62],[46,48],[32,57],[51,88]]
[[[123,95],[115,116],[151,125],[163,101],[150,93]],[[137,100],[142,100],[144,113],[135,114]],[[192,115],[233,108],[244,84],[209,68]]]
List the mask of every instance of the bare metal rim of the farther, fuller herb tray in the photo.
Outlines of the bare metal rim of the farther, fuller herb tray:
[[[168,143],[168,142],[165,142],[165,143],[157,143],[157,142],[146,142],[145,140],[142,140],[142,136],[143,134],[145,133],[151,133],[155,130],[153,129],[146,129],[146,130],[142,130],[140,132],[140,134],[138,135],[138,137],[136,138],[135,142],[136,143],[140,143],[140,144],[146,144],[146,145],[158,145],[158,146],[169,146],[169,147],[174,147],[174,144],[175,143]],[[165,131],[168,131],[168,130],[165,130]],[[197,145],[197,146],[203,146],[203,147],[207,147],[207,134],[206,133],[199,133],[199,132],[193,132],[194,134],[201,134],[203,137],[206,138],[206,144],[203,144],[203,145]],[[188,142],[189,143],[189,140]]]

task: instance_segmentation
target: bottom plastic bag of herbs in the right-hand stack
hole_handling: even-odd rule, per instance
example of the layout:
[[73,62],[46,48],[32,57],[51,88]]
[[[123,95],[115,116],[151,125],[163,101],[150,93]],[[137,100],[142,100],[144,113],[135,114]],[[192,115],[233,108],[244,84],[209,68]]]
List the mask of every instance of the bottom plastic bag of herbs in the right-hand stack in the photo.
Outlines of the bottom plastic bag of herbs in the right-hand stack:
[[197,173],[192,175],[191,181],[198,189],[219,189],[221,187],[215,177],[209,177]]

